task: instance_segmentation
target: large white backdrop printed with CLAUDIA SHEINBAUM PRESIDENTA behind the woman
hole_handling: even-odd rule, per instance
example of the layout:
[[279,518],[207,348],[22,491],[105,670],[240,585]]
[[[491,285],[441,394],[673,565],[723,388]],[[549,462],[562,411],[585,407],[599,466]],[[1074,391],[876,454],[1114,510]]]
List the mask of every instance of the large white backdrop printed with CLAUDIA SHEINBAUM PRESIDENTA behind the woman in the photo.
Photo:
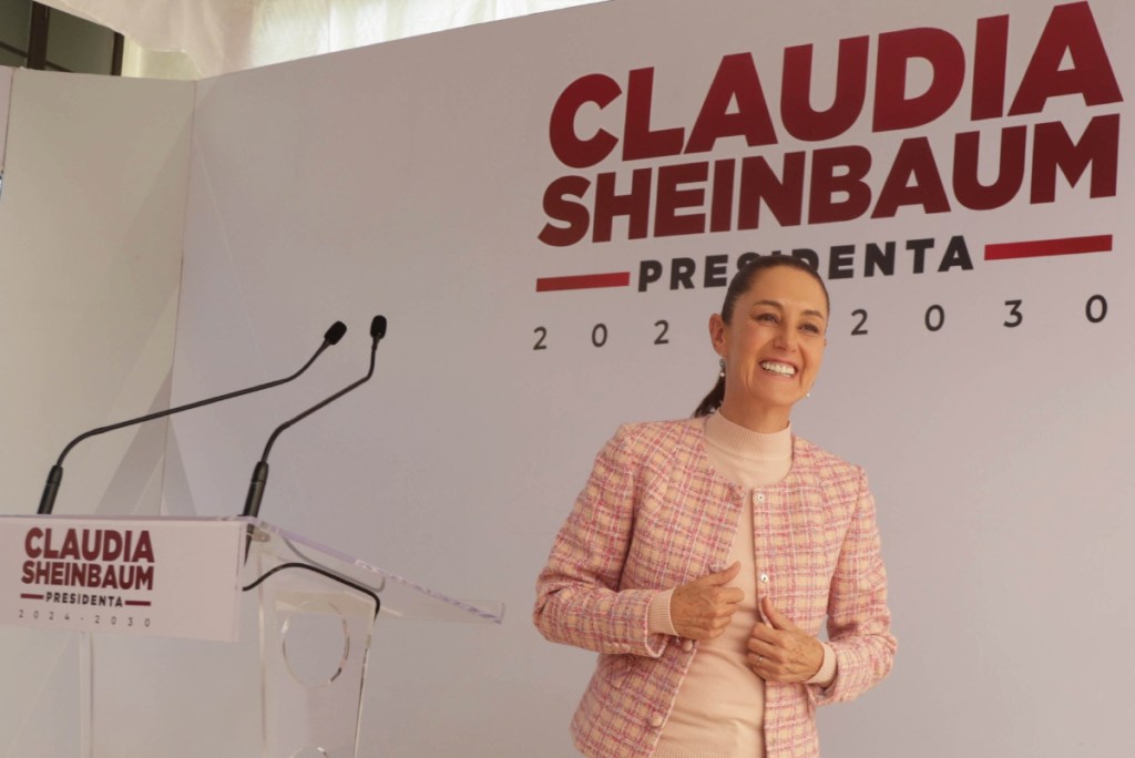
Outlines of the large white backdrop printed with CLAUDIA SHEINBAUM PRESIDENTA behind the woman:
[[[1135,327],[1135,266],[1121,119],[1133,11],[1118,0],[894,1],[871,14],[723,1],[709,18],[686,2],[644,8],[606,3],[200,84],[173,402],[289,372],[335,319],[352,331],[299,386],[170,424],[165,511],[237,513],[271,428],[362,374],[365,325],[385,313],[378,377],[280,438],[262,515],[444,592],[508,606],[499,628],[380,628],[369,755],[572,755],[566,725],[591,655],[545,642],[529,621],[555,530],[617,423],[686,415],[712,384],[706,322],[724,290],[704,286],[709,256],[728,256],[731,271],[748,251],[808,249],[825,273],[834,259],[835,273],[851,276],[830,280],[824,370],[793,422],[872,477],[899,638],[888,681],[821,711],[825,755],[1129,753],[1135,614],[1121,598],[1135,516],[1124,463],[1135,445],[1120,430],[1133,409],[1124,337]],[[926,27],[941,32],[914,31]],[[860,36],[858,118],[824,138],[792,137],[781,110],[785,48],[814,45],[812,102],[822,109],[839,41]],[[947,93],[944,106],[925,123],[882,128],[874,103],[886,90],[876,83],[907,70],[903,51],[910,81],[892,100],[905,92],[917,103],[928,89]],[[680,150],[734,53],[729,61],[753,56],[775,143],[723,136],[669,154],[675,133],[663,130],[683,129]],[[631,74],[645,68],[653,86]],[[621,142],[597,165],[570,168],[548,124],[557,98],[592,74],[614,94],[603,108],[583,104],[573,128]],[[753,92],[750,79],[715,123],[737,125],[729,115],[740,111],[742,125],[759,125]],[[629,102],[649,113],[648,127],[628,126]],[[1015,127],[1025,136],[1020,187],[995,208],[967,209],[961,197],[975,204],[974,193],[957,189],[956,135],[980,133],[989,185],[1003,135],[1016,154],[1018,132],[1002,132]],[[647,132],[662,132],[658,154],[636,157]],[[812,178],[825,159],[865,154],[861,182],[842,184],[851,195],[825,195]],[[697,216],[711,204],[697,191],[725,196],[724,180],[690,178],[697,165],[737,159],[751,179],[758,158],[777,177],[804,161],[799,222],[765,204],[756,229],[730,213],[713,217],[721,231],[656,234],[667,202],[674,216]],[[1014,161],[1000,165],[1011,176]],[[637,169],[655,169],[638,175],[654,185],[681,177],[669,195],[641,195],[644,237],[630,238],[620,218],[609,242],[592,242],[590,227],[562,247],[538,239],[549,221],[582,218],[570,216],[577,205],[594,212],[600,175],[625,194]],[[588,191],[549,219],[545,191],[568,175]],[[792,199],[785,184],[773,202]],[[808,222],[825,196],[847,210],[865,192],[871,202],[850,218]],[[958,237],[964,253],[950,247]],[[987,245],[1049,239],[1087,242],[986,259]],[[893,273],[868,276],[868,243],[896,244]],[[683,266],[673,259],[692,259],[696,286],[669,287]],[[644,261],[664,275],[639,292]],[[537,279],[606,272],[627,272],[629,286],[536,292]]]

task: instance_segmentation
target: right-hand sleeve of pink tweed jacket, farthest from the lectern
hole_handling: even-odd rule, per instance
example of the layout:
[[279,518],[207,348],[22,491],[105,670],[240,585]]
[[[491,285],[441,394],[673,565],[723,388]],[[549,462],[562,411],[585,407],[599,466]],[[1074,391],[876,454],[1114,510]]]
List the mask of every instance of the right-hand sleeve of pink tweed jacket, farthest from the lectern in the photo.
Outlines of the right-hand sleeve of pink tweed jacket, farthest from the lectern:
[[863,471],[855,513],[832,576],[827,639],[835,651],[835,681],[826,689],[808,688],[816,705],[852,700],[890,673],[896,640],[886,607],[886,570],[880,553],[875,500]]

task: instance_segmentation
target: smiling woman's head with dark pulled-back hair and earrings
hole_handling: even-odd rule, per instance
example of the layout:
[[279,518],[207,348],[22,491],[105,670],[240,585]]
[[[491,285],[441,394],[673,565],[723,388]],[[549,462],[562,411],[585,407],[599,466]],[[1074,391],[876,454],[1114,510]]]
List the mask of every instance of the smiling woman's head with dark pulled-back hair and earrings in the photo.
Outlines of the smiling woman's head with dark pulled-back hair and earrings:
[[731,323],[709,319],[725,359],[722,414],[754,431],[780,431],[808,394],[824,360],[827,305],[810,275],[787,266],[757,275],[733,305]]

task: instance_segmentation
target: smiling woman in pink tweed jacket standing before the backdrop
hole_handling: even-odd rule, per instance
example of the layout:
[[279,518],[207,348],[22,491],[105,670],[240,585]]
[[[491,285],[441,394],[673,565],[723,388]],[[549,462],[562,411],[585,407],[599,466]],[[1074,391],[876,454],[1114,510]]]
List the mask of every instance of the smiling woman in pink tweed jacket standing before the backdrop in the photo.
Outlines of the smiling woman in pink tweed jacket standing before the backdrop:
[[818,756],[815,706],[890,672],[866,475],[790,427],[829,312],[807,263],[755,259],[709,319],[722,371],[693,418],[624,426],[599,452],[533,613],[600,654],[572,721],[585,755]]

